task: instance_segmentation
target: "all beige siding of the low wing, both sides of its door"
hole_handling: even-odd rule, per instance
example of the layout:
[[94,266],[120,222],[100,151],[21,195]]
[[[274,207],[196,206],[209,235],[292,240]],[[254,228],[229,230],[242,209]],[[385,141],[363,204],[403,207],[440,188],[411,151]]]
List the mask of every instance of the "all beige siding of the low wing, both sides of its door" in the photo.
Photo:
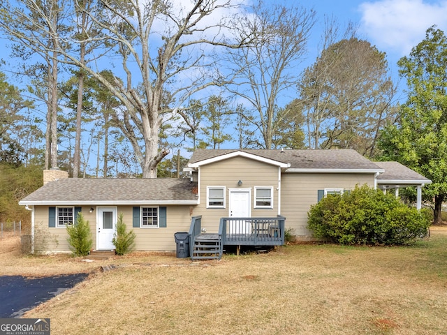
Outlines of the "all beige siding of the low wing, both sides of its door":
[[[93,248],[96,249],[96,207],[94,207],[93,213],[89,212],[90,207],[82,207],[82,215],[89,221]],[[132,208],[132,206],[118,206],[117,214],[124,214],[123,221],[126,223],[128,230],[133,230],[137,235],[135,251],[175,251],[175,232],[189,231],[189,225],[191,224],[189,206],[166,206],[166,228],[133,228]],[[34,250],[36,253],[70,251],[66,228],[48,227],[48,207],[35,207],[34,222],[36,229]]]

